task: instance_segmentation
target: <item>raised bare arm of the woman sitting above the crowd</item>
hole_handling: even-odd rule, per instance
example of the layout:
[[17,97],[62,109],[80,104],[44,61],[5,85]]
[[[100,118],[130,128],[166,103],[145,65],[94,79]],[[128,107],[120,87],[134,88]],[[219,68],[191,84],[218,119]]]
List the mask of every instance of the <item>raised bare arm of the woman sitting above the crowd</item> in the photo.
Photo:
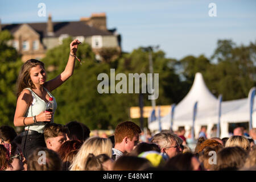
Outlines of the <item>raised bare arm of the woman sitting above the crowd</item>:
[[65,70],[62,73],[60,73],[60,75],[58,75],[57,77],[46,82],[45,87],[49,92],[56,89],[58,86],[63,84],[63,82],[68,80],[68,78],[73,75],[73,71],[75,68],[75,61],[76,61],[75,55],[76,55],[77,47],[79,44],[81,44],[81,42],[79,42],[79,40],[77,40],[77,39],[75,39],[71,42],[70,54],[69,54],[68,63],[65,67]]

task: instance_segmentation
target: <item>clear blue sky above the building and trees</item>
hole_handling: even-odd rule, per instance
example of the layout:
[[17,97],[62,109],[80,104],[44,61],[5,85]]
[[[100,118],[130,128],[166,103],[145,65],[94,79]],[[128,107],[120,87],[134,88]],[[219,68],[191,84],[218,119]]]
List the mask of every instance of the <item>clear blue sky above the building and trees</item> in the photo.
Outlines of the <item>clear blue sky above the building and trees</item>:
[[[232,39],[238,45],[256,40],[256,1],[250,0],[0,1],[1,22],[46,22],[47,16],[38,16],[42,2],[53,22],[105,12],[108,28],[117,28],[127,52],[159,45],[166,57],[210,57],[218,39]],[[217,17],[208,15],[209,3],[216,4]]]

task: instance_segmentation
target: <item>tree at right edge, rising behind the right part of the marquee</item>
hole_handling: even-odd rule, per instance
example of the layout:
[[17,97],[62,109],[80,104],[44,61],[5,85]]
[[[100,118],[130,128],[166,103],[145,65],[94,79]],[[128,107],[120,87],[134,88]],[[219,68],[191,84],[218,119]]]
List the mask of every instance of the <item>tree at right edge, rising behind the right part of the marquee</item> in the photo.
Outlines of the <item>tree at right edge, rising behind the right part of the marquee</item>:
[[[208,81],[222,94],[223,100],[235,100],[248,96],[256,85],[255,44],[237,46],[232,40],[218,40],[212,59],[218,64],[209,69]],[[210,75],[211,74],[211,75]]]

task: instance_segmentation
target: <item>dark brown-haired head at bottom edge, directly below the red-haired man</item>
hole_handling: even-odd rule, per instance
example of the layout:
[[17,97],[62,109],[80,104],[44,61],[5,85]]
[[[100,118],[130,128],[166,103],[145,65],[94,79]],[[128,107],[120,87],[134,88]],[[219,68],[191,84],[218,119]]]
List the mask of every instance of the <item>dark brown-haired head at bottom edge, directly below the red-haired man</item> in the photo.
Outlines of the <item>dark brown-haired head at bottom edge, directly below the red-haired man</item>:
[[145,158],[122,155],[120,158],[115,160],[113,164],[113,171],[142,171],[149,167],[152,167],[152,164]]

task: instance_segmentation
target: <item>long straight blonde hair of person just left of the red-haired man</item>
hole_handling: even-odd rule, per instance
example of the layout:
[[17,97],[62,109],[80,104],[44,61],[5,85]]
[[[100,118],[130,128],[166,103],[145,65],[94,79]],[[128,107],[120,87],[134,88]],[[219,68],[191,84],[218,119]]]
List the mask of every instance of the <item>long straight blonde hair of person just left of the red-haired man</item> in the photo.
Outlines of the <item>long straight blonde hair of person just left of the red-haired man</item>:
[[112,142],[109,138],[90,137],[82,144],[73,159],[70,171],[85,171],[85,164],[89,154],[106,154],[112,158]]

